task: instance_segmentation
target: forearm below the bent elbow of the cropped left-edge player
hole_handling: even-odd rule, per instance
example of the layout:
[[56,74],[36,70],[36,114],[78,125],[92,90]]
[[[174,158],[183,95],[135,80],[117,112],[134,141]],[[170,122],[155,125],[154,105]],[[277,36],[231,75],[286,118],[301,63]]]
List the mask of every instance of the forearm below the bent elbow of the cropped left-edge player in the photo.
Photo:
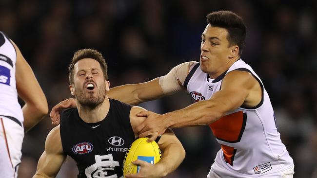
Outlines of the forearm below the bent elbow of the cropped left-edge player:
[[24,131],[27,132],[34,125],[37,125],[43,117],[47,114],[48,108],[46,107],[37,107],[35,105],[25,104],[22,107],[23,117],[24,117]]

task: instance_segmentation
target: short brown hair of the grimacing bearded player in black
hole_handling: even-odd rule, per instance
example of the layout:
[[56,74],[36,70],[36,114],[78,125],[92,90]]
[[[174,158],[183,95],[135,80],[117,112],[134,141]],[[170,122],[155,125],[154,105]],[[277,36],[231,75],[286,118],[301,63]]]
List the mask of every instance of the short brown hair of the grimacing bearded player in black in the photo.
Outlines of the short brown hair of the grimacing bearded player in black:
[[99,53],[97,50],[93,49],[83,49],[83,50],[78,50],[73,58],[72,62],[69,65],[68,72],[69,72],[69,82],[70,84],[74,83],[74,65],[80,60],[80,59],[85,59],[85,58],[91,58],[95,59],[96,61],[99,62],[103,77],[105,80],[108,80],[108,73],[107,73],[107,63],[106,60],[103,58],[102,54]]

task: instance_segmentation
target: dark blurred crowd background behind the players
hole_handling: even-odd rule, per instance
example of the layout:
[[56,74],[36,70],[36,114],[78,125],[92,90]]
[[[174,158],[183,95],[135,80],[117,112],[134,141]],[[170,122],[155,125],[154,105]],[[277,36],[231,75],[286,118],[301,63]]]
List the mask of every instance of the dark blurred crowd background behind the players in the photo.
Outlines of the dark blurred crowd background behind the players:
[[[205,17],[217,10],[244,18],[248,36],[241,58],[269,93],[295,178],[317,178],[316,0],[0,0],[0,31],[20,47],[51,109],[71,97],[67,68],[77,50],[104,55],[112,87],[145,82],[198,61]],[[191,103],[183,92],[141,106],[165,113]],[[35,173],[52,128],[47,115],[26,133],[19,178]],[[211,130],[174,131],[186,158],[168,178],[205,178],[220,148]],[[67,159],[58,178],[77,172]]]

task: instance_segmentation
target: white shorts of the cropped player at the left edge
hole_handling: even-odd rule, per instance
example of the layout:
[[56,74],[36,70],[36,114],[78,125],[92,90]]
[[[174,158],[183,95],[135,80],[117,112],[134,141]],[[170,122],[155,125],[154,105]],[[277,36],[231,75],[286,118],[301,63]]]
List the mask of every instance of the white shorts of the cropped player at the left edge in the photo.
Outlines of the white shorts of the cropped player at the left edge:
[[[19,122],[19,121],[17,121]],[[24,137],[23,125],[0,116],[0,170],[1,178],[17,178]]]

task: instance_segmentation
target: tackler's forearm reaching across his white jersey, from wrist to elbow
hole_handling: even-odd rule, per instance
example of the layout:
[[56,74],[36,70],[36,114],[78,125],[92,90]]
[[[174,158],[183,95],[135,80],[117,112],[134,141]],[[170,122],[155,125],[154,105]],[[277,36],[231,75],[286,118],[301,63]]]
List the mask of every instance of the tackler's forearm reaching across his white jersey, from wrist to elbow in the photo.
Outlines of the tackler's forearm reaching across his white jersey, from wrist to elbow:
[[171,128],[194,125],[208,125],[215,122],[227,112],[225,104],[213,101],[200,101],[180,110],[165,115],[165,125]]

